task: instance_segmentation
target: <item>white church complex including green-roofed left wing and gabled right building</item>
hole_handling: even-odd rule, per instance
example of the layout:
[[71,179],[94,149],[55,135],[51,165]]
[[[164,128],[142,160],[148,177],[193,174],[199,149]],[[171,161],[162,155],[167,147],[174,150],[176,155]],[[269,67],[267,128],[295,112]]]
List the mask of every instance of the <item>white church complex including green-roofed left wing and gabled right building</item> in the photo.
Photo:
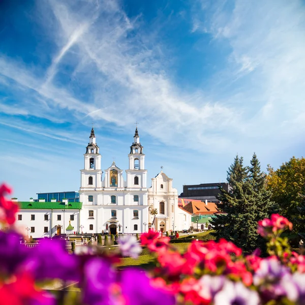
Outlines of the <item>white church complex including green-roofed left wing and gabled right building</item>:
[[[161,171],[147,188],[145,155],[137,128],[128,158],[126,180],[123,170],[114,162],[104,170],[103,177],[102,156],[92,128],[84,154],[84,168],[80,170],[80,202],[53,201],[51,212],[48,211],[51,206],[47,205],[51,203],[44,200],[21,202],[17,223],[28,226],[27,229],[31,226],[33,238],[74,231],[119,234],[143,233],[149,228],[163,232],[189,229],[190,214],[178,207],[178,194],[172,187],[171,178]],[[63,219],[59,216],[61,208],[64,208]],[[156,216],[150,214],[154,209],[158,212]]]

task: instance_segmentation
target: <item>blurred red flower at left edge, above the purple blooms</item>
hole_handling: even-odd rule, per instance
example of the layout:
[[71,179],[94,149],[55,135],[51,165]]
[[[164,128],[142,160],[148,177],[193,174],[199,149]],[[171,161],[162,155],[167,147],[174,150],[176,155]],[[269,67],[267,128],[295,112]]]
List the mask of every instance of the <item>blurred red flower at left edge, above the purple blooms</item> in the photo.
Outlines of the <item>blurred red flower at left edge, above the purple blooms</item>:
[[0,207],[2,208],[2,219],[1,221],[6,222],[9,225],[12,225],[16,220],[16,213],[19,209],[17,203],[7,200],[5,198],[6,194],[11,194],[12,190],[5,184],[0,186]]

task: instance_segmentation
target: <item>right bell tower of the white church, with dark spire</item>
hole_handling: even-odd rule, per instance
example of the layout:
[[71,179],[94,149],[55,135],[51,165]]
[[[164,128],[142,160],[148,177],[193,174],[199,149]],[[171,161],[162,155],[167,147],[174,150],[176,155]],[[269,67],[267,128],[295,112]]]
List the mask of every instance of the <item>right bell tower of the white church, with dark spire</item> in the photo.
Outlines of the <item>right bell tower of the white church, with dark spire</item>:
[[140,143],[138,127],[136,127],[134,141],[130,146],[129,169],[127,172],[128,188],[146,188],[145,155],[143,154],[143,146]]

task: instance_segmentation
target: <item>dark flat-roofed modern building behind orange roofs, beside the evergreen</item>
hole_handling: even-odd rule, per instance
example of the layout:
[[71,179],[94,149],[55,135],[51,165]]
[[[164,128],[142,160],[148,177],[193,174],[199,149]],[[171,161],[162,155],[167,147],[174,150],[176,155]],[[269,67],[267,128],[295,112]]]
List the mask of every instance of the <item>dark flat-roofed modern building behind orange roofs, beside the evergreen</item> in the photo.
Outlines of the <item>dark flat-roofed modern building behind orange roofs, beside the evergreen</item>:
[[218,202],[216,198],[220,194],[219,186],[224,188],[226,191],[230,191],[231,188],[228,183],[206,183],[200,185],[184,185],[183,193],[180,194],[179,198],[197,199],[201,201],[207,200],[208,202]]

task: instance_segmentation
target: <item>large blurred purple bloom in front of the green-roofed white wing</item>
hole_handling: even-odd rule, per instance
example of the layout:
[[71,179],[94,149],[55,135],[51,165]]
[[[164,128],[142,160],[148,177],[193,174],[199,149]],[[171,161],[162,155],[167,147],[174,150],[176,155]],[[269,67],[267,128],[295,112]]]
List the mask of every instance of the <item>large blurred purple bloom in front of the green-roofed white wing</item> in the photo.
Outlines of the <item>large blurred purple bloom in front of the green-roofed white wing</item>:
[[25,268],[39,280],[79,281],[78,257],[67,252],[63,240],[42,240],[38,247],[31,249]]

